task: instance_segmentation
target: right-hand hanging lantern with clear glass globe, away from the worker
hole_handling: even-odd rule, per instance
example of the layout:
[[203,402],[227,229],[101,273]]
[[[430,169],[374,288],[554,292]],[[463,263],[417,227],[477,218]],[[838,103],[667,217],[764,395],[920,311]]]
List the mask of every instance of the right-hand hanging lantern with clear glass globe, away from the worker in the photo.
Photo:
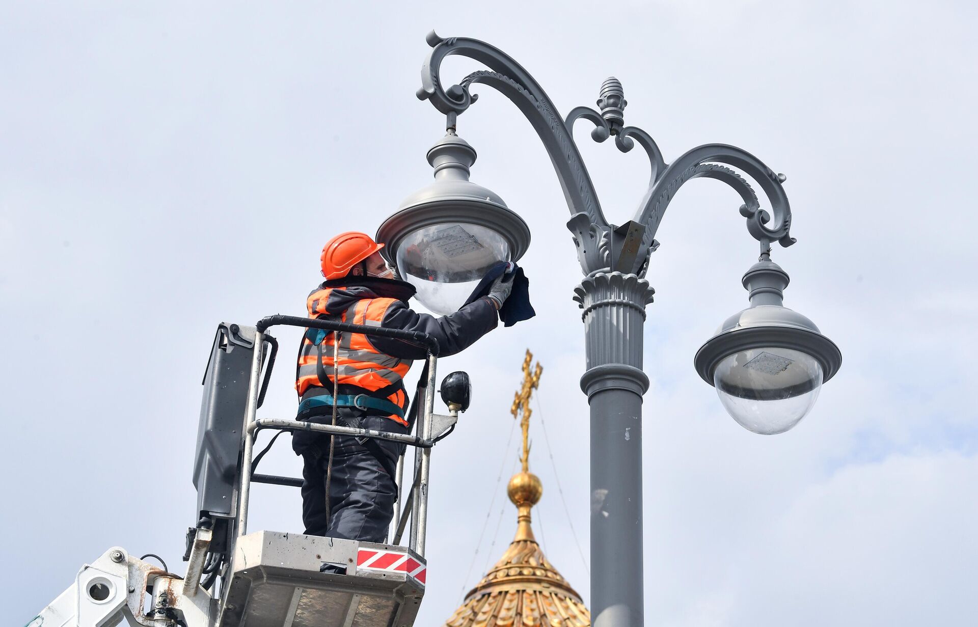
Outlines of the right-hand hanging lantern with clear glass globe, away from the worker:
[[696,353],[696,371],[739,425],[783,433],[811,411],[842,353],[811,320],[781,304],[788,275],[763,259],[743,276],[750,307],[728,318]]

